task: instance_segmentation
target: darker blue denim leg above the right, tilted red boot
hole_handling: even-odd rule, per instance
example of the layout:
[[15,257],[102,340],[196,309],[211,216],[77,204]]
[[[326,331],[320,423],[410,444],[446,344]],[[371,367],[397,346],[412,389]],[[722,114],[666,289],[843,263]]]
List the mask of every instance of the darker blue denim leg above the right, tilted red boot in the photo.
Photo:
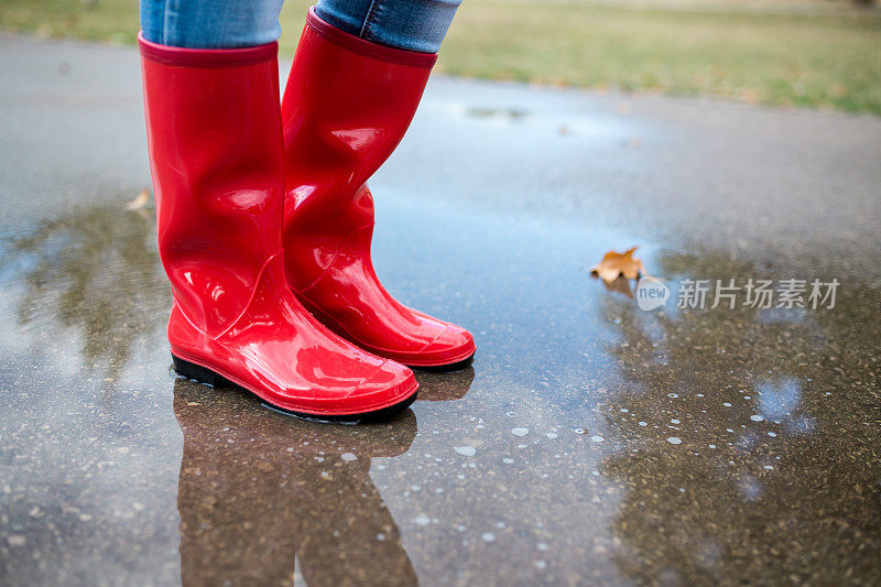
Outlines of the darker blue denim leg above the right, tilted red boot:
[[459,4],[461,0],[318,0],[315,12],[365,41],[437,53]]

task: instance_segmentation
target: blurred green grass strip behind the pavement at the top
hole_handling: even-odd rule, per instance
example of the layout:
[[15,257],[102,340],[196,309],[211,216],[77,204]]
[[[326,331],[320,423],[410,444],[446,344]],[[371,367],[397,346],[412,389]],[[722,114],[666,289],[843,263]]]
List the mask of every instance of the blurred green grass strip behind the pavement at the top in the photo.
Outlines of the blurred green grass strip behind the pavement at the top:
[[[289,54],[308,1],[282,13]],[[718,3],[716,4],[718,7]],[[467,0],[438,69],[540,84],[713,95],[881,115],[881,13],[667,10],[547,0]],[[0,0],[0,28],[131,43],[137,2]]]

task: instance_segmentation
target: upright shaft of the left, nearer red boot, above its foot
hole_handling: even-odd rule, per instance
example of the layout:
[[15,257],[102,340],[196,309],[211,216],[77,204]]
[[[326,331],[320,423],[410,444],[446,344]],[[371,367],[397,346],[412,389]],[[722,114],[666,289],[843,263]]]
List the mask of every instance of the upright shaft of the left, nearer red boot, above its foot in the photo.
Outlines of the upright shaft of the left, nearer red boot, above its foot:
[[176,305],[215,336],[281,249],[278,46],[140,46],[160,257]]

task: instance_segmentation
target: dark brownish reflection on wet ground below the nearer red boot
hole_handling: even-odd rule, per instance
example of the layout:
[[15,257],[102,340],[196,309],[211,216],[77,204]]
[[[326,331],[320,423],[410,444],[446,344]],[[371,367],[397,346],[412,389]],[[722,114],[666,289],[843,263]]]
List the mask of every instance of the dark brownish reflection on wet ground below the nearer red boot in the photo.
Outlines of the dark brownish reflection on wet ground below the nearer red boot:
[[415,585],[400,531],[370,479],[372,457],[406,453],[416,417],[329,426],[184,379],[177,508],[187,585]]

